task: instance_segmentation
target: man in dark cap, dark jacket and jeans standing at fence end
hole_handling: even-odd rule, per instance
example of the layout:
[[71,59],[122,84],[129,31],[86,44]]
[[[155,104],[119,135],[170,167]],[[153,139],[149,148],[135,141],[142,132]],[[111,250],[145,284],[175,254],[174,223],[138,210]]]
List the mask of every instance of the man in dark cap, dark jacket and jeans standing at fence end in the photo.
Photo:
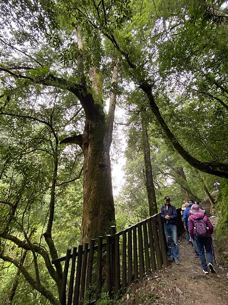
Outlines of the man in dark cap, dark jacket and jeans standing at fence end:
[[170,229],[170,238],[171,238],[171,247],[172,247],[170,261],[172,262],[174,260],[175,263],[179,265],[178,237],[177,237],[177,227],[176,227],[177,212],[175,206],[170,204],[169,196],[166,196],[164,198],[164,202],[165,204],[161,207],[161,216],[164,223],[167,243],[168,243],[168,229]]

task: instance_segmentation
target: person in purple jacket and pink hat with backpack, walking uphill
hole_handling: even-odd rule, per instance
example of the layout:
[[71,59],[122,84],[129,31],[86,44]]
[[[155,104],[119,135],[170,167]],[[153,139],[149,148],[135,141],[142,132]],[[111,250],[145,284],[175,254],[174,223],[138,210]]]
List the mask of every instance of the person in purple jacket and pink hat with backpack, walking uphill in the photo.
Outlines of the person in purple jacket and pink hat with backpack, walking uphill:
[[203,272],[208,275],[207,263],[204,255],[204,247],[207,252],[207,259],[209,261],[208,267],[211,273],[215,273],[213,267],[213,253],[212,253],[212,239],[213,226],[209,218],[204,214],[204,210],[198,204],[191,207],[191,216],[189,217],[189,233],[193,240],[196,240]]

